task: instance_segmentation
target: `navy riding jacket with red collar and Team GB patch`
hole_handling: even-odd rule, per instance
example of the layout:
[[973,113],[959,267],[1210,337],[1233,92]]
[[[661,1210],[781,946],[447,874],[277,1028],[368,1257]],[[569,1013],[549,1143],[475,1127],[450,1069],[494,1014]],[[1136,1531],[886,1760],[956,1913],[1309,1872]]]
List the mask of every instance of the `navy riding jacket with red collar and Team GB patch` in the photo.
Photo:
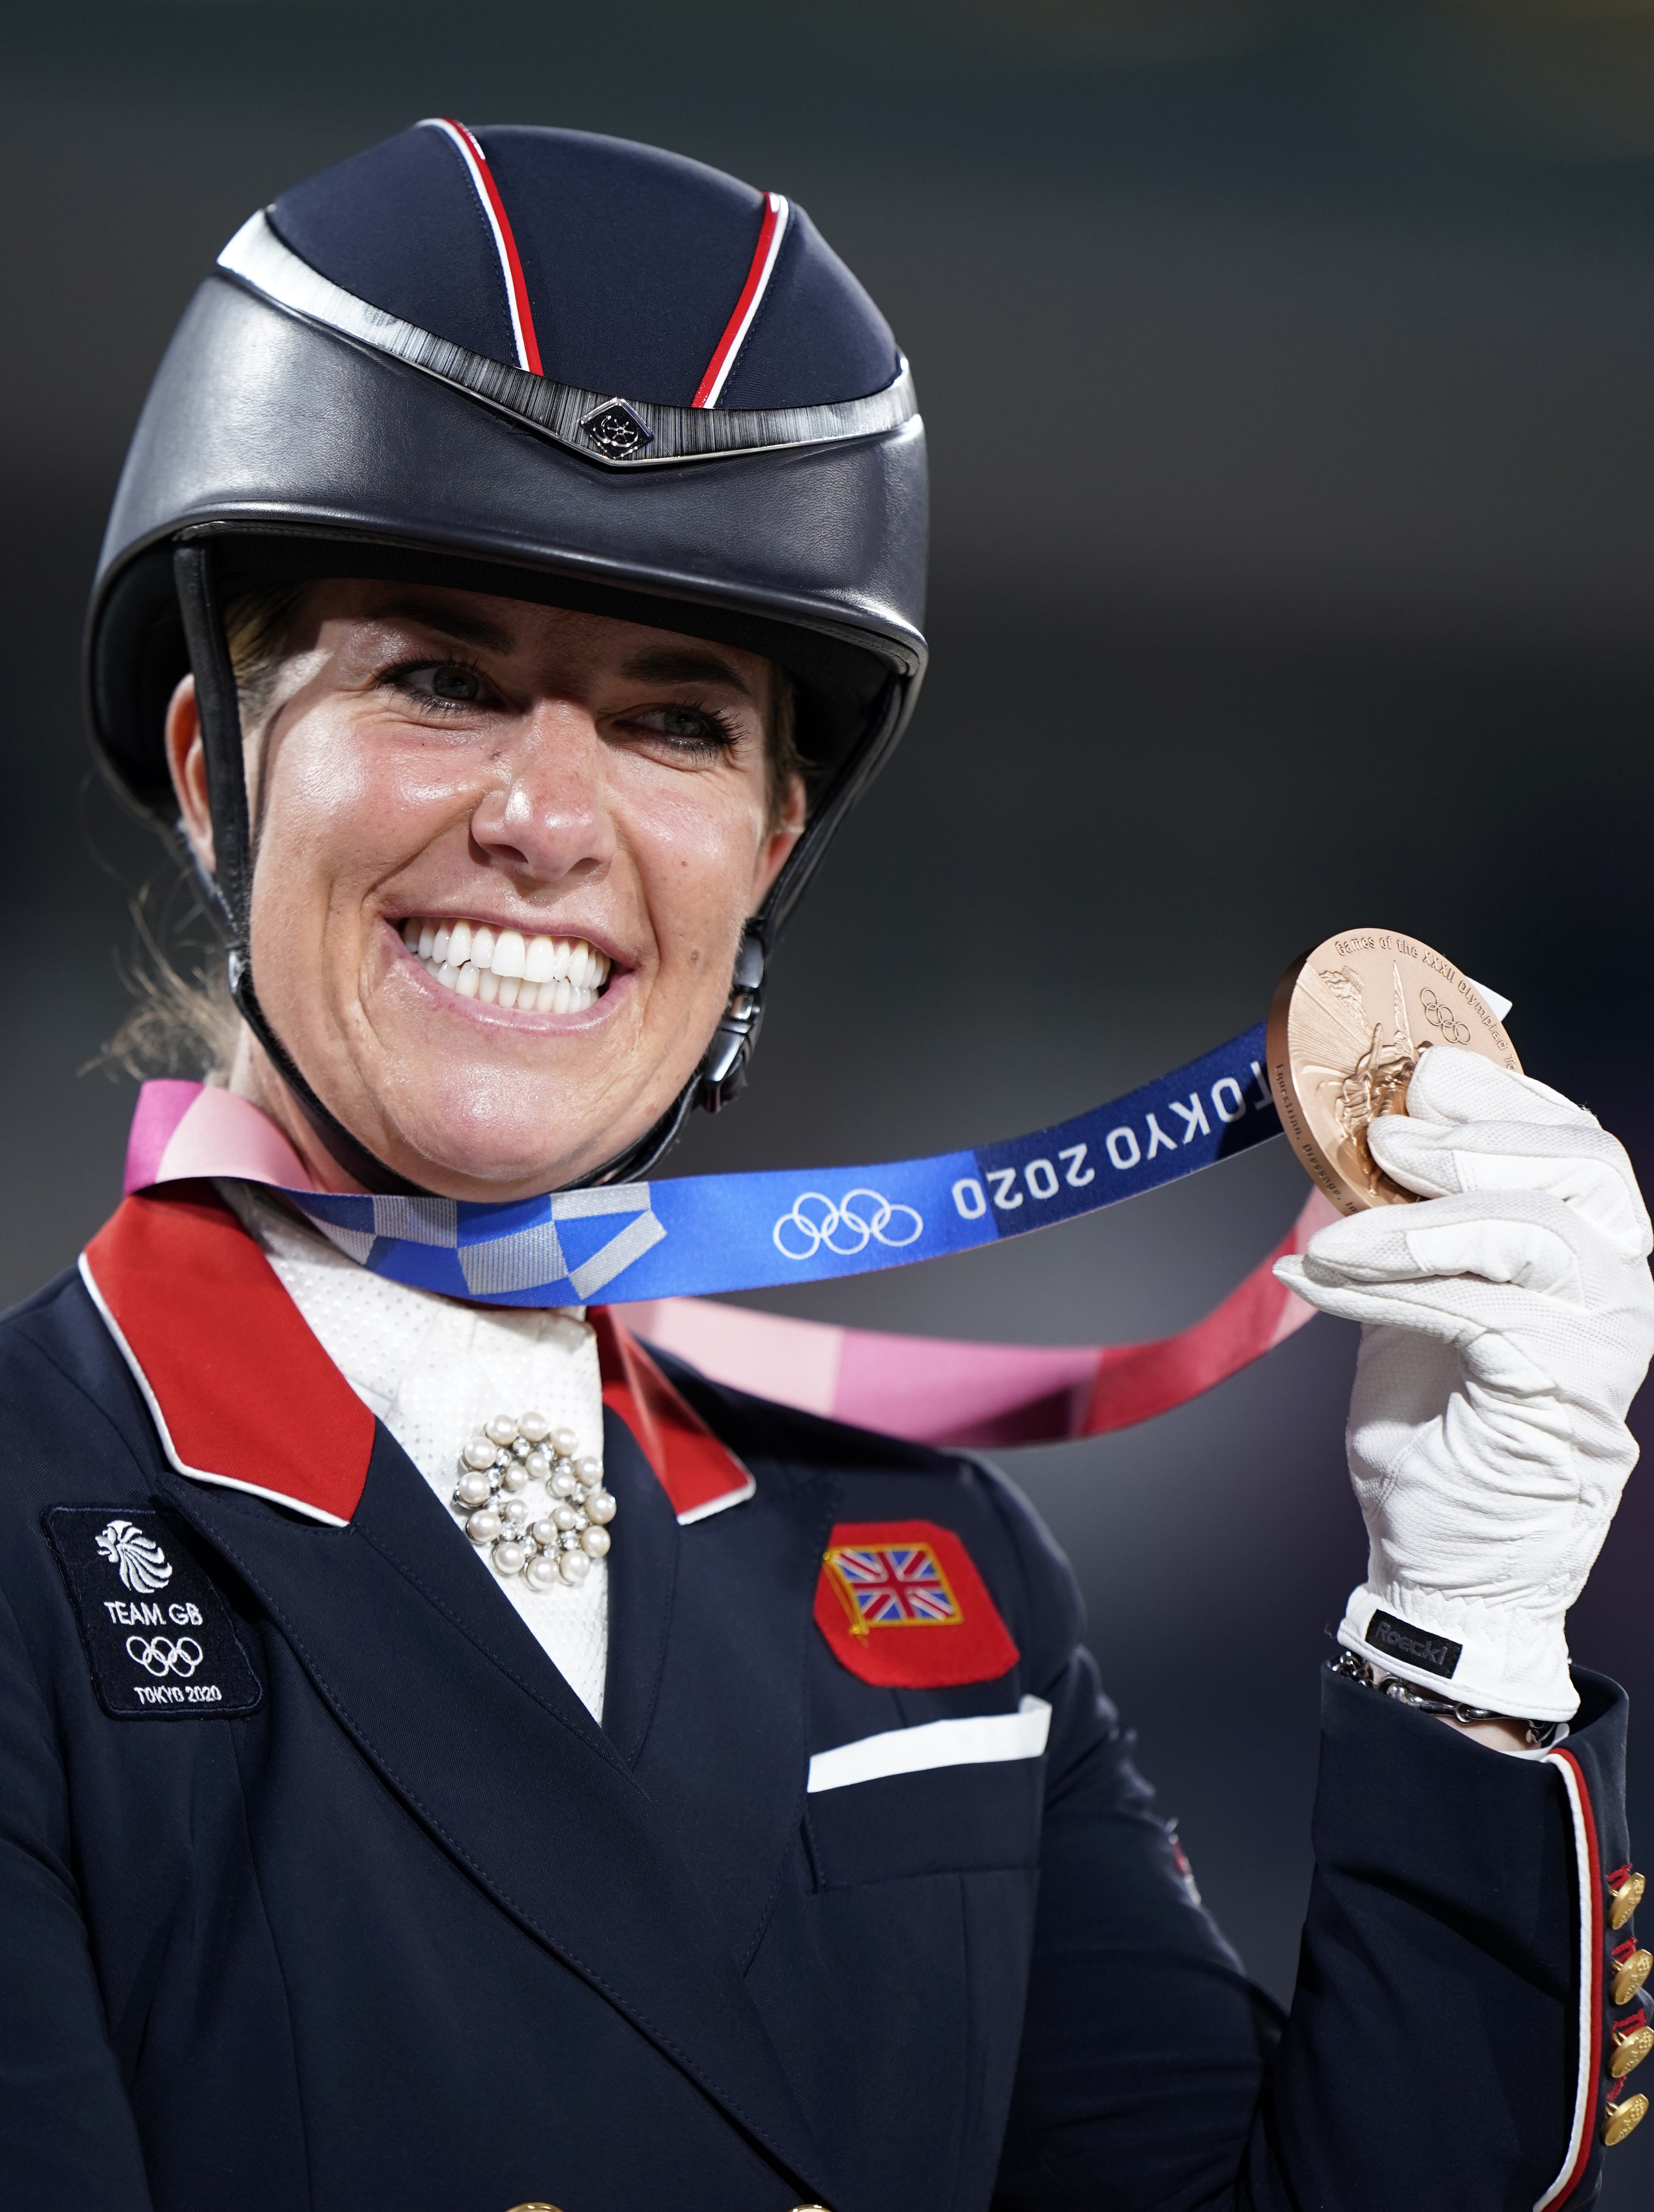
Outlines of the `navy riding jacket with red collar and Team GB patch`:
[[1614,1686],[1519,1761],[1327,1677],[1283,2020],[1017,1491],[626,1358],[599,1728],[201,1192],[0,1323],[7,2203],[1594,2199]]

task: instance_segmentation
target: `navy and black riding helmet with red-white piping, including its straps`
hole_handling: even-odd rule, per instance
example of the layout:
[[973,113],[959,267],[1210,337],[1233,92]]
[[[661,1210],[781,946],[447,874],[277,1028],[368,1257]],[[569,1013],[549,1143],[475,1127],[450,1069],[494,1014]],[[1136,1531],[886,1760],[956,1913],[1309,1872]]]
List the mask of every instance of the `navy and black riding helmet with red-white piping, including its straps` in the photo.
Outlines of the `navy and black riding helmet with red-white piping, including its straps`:
[[431,119],[283,192],[219,254],[126,458],[86,637],[97,754],[170,825],[195,670],[230,987],[338,1161],[407,1190],[259,1006],[221,608],[321,575],[621,615],[787,670],[809,825],[690,1088],[601,1177],[745,1079],[763,969],[924,672],[924,429],[882,314],[803,208],[582,131]]

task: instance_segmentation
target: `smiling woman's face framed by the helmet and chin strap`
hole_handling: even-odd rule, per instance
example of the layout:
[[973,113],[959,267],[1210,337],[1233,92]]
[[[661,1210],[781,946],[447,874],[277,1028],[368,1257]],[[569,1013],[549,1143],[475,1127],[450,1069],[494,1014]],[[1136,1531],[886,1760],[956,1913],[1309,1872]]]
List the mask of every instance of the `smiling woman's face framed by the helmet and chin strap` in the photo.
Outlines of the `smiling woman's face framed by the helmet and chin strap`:
[[[444,1197],[513,1199],[666,1113],[803,827],[796,781],[772,821],[774,684],[754,653],[601,615],[310,586],[248,737],[252,973],[369,1150]],[[210,867],[188,679],[168,759]],[[232,1086],[338,1186],[248,1033]]]

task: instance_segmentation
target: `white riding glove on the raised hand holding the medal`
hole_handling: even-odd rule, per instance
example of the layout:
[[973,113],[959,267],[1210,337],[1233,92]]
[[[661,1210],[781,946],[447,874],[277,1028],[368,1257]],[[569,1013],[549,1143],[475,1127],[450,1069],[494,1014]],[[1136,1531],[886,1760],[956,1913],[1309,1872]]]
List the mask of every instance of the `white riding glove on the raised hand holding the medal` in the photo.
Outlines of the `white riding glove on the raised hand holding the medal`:
[[1349,1471],[1367,1582],[1338,1641],[1455,1703],[1572,1719],[1563,1615],[1636,1462],[1650,1221],[1581,1106],[1431,1046],[1373,1157],[1426,1203],[1336,1221],[1283,1283],[1362,1323]]

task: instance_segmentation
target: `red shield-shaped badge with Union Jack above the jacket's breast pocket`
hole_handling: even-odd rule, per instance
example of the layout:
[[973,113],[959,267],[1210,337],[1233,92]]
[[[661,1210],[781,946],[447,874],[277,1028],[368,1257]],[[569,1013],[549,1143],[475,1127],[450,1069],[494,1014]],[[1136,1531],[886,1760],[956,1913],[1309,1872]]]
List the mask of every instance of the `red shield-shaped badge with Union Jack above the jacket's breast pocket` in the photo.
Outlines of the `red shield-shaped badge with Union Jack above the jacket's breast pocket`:
[[935,1522],[840,1522],[820,1562],[816,1628],[880,1690],[993,1681],[1017,1663],[971,1553]]

